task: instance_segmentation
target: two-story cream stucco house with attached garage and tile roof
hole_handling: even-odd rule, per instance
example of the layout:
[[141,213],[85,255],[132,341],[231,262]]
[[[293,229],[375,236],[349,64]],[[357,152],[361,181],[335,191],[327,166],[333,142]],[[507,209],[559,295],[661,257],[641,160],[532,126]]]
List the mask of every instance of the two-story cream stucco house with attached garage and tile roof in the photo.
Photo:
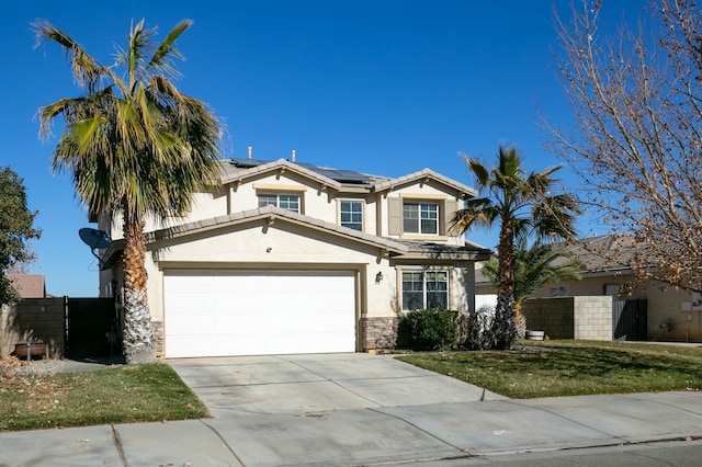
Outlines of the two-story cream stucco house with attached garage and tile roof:
[[[472,309],[490,251],[451,231],[476,192],[424,169],[396,179],[275,160],[223,162],[219,190],[145,228],[157,354],[392,348],[404,312]],[[122,227],[100,223],[101,295],[120,298]]]

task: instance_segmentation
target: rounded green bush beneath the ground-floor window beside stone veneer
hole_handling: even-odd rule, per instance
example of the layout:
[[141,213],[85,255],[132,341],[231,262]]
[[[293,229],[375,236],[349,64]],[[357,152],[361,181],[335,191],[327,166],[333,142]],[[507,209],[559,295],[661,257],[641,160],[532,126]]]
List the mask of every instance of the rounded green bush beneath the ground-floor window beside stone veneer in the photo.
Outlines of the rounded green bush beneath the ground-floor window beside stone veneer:
[[458,339],[457,312],[442,309],[407,314],[397,329],[397,348],[415,351],[451,350]]

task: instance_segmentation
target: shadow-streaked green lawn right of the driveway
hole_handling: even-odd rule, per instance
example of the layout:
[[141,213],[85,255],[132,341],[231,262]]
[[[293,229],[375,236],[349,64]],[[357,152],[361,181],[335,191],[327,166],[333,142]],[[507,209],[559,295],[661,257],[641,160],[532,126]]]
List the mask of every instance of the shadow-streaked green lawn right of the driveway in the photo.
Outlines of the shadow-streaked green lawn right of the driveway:
[[[537,348],[520,350],[521,345]],[[521,341],[516,349],[396,358],[517,399],[702,389],[702,349],[698,348]]]

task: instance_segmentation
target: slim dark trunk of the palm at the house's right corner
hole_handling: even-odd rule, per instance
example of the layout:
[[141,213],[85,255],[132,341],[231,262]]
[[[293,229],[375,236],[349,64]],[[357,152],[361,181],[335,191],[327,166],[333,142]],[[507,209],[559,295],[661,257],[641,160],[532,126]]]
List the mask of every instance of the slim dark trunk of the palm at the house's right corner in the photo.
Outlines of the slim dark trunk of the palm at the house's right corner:
[[514,322],[514,234],[511,219],[502,218],[498,247],[499,285],[492,321],[495,349],[511,349],[517,340]]

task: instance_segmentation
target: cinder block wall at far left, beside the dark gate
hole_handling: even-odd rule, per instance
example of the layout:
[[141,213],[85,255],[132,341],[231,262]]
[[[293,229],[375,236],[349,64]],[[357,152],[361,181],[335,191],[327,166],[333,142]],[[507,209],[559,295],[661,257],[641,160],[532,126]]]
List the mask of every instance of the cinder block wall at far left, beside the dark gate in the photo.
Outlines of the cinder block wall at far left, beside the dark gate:
[[12,354],[21,341],[42,341],[47,344],[47,357],[63,358],[64,312],[64,298],[25,298],[0,307],[0,354]]

